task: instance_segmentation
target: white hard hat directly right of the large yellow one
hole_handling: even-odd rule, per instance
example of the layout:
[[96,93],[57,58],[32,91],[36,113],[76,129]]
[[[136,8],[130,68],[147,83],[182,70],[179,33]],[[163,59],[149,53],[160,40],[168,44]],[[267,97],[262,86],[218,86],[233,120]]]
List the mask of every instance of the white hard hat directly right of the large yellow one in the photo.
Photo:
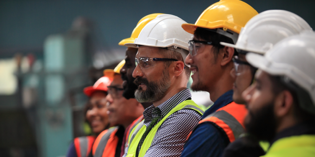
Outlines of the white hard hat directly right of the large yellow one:
[[285,10],[267,10],[247,22],[235,45],[224,42],[221,44],[265,54],[277,42],[305,30],[311,32],[312,28],[300,16]]

